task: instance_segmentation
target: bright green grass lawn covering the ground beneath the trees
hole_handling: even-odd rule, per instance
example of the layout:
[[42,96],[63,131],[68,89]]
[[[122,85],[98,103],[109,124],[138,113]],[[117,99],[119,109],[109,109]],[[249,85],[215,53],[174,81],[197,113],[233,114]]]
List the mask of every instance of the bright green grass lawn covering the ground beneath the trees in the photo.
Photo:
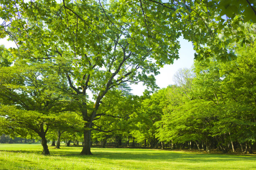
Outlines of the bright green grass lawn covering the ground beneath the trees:
[[0,170],[256,170],[255,155],[191,153],[150,149],[92,148],[94,155],[79,155],[81,147],[40,144],[0,144]]

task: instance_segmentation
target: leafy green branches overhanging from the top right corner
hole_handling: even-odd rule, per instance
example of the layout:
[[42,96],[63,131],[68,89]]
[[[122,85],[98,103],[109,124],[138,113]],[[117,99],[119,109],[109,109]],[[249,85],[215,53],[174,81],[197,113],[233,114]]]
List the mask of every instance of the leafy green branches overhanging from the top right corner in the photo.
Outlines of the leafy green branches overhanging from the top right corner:
[[148,42],[170,40],[171,36],[177,45],[177,38],[183,35],[192,42],[196,60],[214,56],[230,61],[236,58],[228,49],[230,44],[248,46],[256,38],[256,7],[250,1],[120,0],[119,9],[137,15],[135,20],[147,30]]

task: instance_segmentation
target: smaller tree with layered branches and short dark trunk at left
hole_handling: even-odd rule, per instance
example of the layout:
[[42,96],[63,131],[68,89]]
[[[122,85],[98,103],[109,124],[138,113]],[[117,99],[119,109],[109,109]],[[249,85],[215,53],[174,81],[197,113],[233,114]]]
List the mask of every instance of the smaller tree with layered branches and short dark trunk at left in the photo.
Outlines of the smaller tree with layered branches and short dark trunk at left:
[[58,125],[75,122],[70,100],[59,92],[65,83],[52,72],[53,67],[43,62],[22,60],[13,66],[1,67],[0,126],[5,134],[25,138],[39,136],[49,155],[46,133]]

